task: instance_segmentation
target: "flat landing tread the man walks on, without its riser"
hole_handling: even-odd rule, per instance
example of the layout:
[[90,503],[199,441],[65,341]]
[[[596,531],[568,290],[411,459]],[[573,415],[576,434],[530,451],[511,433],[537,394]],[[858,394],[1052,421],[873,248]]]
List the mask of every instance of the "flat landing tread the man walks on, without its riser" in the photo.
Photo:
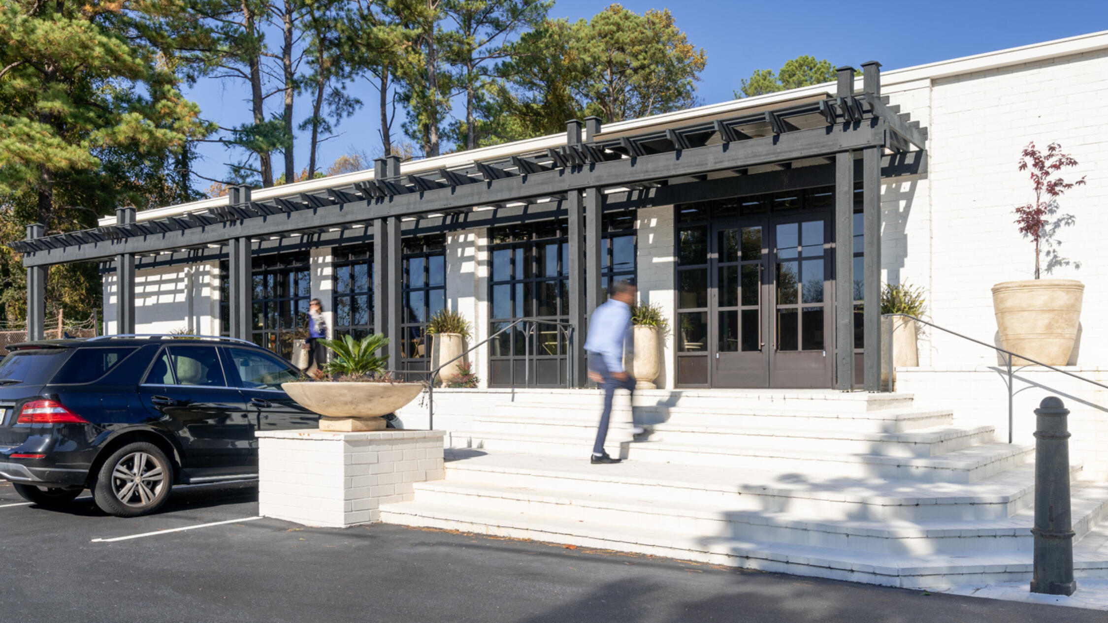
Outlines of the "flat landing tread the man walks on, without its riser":
[[[810,497],[830,501],[885,505],[1008,503],[1033,488],[1035,466],[1020,465],[972,484],[926,482],[881,477],[829,475],[811,478],[793,470],[727,470],[715,466],[625,461],[591,465],[582,458],[448,448],[447,477],[472,471],[536,475],[583,481],[693,488],[708,491]],[[1075,464],[1074,468],[1079,468]]]

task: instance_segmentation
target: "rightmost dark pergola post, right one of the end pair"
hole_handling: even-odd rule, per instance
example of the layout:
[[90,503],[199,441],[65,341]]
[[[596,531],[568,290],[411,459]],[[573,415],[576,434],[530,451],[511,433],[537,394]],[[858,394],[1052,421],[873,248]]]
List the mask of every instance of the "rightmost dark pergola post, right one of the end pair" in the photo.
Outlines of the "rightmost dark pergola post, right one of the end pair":
[[[862,92],[871,101],[881,95],[881,64],[862,64]],[[864,304],[863,355],[866,392],[881,391],[881,147],[862,149],[862,231],[865,239],[862,302]]]

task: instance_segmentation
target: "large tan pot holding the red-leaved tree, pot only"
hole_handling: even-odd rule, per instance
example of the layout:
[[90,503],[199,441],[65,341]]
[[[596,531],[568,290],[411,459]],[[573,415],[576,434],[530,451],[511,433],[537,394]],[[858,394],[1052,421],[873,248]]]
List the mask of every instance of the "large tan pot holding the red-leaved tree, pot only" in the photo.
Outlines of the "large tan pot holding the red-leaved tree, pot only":
[[[993,285],[1001,347],[1048,365],[1066,365],[1081,320],[1085,284],[1074,279],[1028,279]],[[1014,365],[1030,362],[1014,357]]]

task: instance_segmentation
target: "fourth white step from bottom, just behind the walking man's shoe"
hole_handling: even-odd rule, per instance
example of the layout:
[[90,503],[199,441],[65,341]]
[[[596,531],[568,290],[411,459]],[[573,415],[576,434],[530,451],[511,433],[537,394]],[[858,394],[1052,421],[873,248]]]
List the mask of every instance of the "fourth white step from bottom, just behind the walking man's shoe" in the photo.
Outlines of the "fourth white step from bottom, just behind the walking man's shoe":
[[[577,437],[525,436],[472,430],[451,435],[453,447],[495,451],[587,457],[592,443]],[[780,469],[809,474],[902,478],[930,482],[974,482],[1023,465],[1034,446],[983,444],[934,457],[876,454],[832,454],[756,447],[695,446],[665,442],[624,443],[608,439],[612,456],[636,461],[705,465],[720,469]]]

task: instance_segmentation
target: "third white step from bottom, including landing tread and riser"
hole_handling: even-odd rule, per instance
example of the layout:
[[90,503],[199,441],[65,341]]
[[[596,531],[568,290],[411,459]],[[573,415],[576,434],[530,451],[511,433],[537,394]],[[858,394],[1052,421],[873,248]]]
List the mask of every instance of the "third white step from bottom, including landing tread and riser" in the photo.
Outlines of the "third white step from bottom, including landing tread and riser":
[[[448,450],[447,482],[565,495],[788,512],[821,520],[962,521],[1005,519],[1033,502],[1034,465],[974,484],[844,478],[762,469],[725,470],[627,461],[591,465],[582,457]],[[1071,466],[1071,479],[1080,477]]]

